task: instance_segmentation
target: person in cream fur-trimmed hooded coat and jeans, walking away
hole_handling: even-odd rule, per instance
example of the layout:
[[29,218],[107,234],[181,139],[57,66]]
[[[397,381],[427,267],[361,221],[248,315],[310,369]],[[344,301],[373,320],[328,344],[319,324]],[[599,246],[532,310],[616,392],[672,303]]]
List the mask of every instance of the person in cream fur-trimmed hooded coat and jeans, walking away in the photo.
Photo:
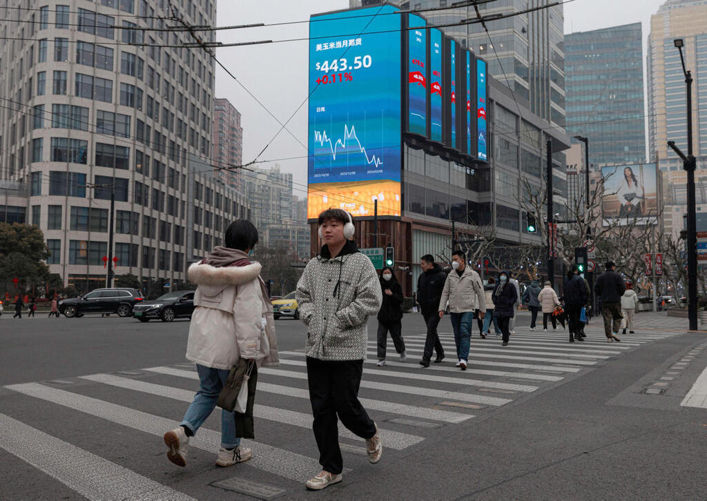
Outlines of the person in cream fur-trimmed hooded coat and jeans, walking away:
[[258,230],[240,219],[228,226],[224,241],[225,247],[214,247],[187,272],[189,281],[197,285],[187,359],[197,364],[199,391],[180,425],[163,437],[167,458],[177,466],[187,466],[189,439],[214,411],[234,366],[245,366],[250,374],[247,383],[243,382],[247,404],[243,413],[222,409],[216,466],[233,466],[252,458],[252,450],[241,446],[240,439],[255,437],[257,369],[279,362],[272,305],[260,278],[262,266],[248,259],[258,242]]

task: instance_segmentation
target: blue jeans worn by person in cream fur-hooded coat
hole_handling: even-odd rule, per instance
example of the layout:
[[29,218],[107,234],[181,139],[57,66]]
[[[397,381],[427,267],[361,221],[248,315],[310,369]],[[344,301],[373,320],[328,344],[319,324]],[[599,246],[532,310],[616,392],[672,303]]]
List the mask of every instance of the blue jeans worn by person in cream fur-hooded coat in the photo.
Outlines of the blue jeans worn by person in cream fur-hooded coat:
[[[218,394],[221,393],[223,384],[228,379],[227,369],[212,369],[197,364],[199,374],[199,391],[194,395],[194,401],[187,409],[180,426],[186,426],[193,434],[211,415],[218,401]],[[221,409],[221,447],[233,449],[240,445],[240,438],[235,436],[235,415],[232,412]]]

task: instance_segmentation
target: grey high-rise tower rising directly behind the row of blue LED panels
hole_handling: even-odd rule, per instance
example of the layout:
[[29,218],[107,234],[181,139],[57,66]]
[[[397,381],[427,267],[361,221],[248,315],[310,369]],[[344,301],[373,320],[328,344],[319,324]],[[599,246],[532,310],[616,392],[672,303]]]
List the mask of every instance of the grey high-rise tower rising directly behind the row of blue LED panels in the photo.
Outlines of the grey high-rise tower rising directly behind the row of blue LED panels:
[[[351,7],[382,3],[382,0],[349,0]],[[564,14],[561,5],[488,20],[487,34],[481,23],[462,24],[463,20],[477,18],[473,5],[443,8],[453,2],[438,0],[386,3],[411,11],[422,10],[431,25],[459,23],[440,29],[459,40],[462,47],[468,47],[486,59],[489,75],[513,90],[520,107],[530,109],[552,124],[565,126]],[[481,16],[486,17],[518,13],[551,3],[550,0],[503,0],[477,7]]]

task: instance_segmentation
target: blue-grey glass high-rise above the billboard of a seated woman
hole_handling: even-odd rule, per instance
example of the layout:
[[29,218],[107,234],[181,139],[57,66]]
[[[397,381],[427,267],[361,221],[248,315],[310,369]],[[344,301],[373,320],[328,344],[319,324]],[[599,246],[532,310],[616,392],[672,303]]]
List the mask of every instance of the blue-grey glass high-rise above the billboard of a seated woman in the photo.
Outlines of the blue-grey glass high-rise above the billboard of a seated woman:
[[567,134],[592,165],[645,162],[642,43],[641,23],[565,35]]

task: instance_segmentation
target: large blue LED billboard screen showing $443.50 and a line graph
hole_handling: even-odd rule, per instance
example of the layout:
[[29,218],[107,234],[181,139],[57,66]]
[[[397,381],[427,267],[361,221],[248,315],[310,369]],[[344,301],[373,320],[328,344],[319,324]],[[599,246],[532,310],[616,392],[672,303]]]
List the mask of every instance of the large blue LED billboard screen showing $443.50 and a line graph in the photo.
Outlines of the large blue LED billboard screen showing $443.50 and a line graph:
[[401,18],[375,6],[312,16],[308,218],[400,215]]

